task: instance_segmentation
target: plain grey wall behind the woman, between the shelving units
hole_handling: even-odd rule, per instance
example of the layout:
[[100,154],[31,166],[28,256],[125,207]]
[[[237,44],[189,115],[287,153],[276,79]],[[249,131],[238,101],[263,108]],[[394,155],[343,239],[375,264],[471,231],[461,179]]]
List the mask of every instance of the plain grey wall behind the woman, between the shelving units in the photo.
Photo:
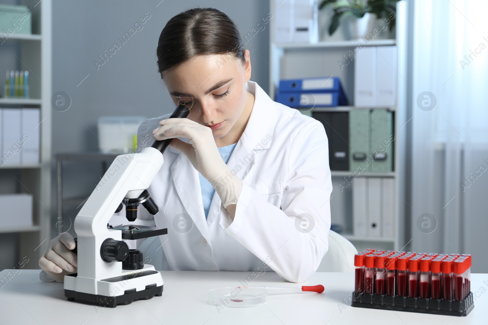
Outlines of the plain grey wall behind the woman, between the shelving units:
[[[53,155],[98,151],[97,119],[102,115],[155,117],[173,111],[174,104],[156,75],[156,46],[167,20],[193,7],[214,7],[234,19],[247,35],[269,12],[268,0],[53,0],[53,93],[65,92],[71,106],[53,110]],[[122,37],[145,13],[150,18],[125,44]],[[252,77],[268,90],[269,24],[246,44]],[[100,67],[94,64],[117,42],[121,48]],[[83,80],[83,78],[85,78]],[[82,81],[83,80],[83,81]],[[81,82],[82,81],[82,82]],[[81,83],[80,83],[81,82]],[[56,172],[53,160],[53,225]],[[102,170],[96,163],[64,166],[64,195],[87,196]],[[64,210],[74,219],[76,206]],[[55,227],[52,227],[55,235]]]

